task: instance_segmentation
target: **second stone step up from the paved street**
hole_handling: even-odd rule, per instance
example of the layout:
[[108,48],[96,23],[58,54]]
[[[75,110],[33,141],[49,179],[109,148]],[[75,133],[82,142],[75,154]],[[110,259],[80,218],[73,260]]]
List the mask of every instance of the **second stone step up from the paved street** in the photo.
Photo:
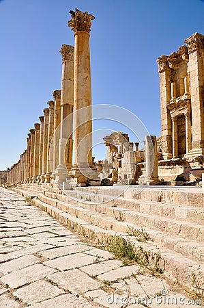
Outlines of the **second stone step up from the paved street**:
[[[136,233],[137,230],[141,231],[141,227],[144,227],[141,224],[119,221],[119,219],[116,219],[111,215],[106,216],[106,214],[96,211],[96,207],[90,207],[90,204],[87,204],[87,207],[85,208],[81,208],[63,201],[48,198],[42,194],[39,194],[38,198],[40,201],[43,201],[48,205],[57,207],[57,209],[61,209],[72,216],[81,218],[86,222],[97,225],[106,230],[113,230],[131,235],[132,233]],[[111,207],[109,209],[113,214],[115,208]],[[188,239],[175,237],[174,234],[173,236],[169,236],[162,231],[156,231],[154,229],[149,229],[148,227],[145,227],[145,232],[148,233],[149,237],[154,241],[154,244],[157,244],[160,247],[169,248],[175,252],[182,253],[186,257],[191,257],[200,261],[203,261],[204,259],[204,244],[201,242],[190,242]]]

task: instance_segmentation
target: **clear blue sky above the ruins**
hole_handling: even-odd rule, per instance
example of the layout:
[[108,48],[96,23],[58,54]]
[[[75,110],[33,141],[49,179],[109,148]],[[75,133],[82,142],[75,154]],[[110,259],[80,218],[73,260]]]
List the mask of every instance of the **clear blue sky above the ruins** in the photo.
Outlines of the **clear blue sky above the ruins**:
[[96,16],[90,39],[93,104],[127,108],[156,136],[156,59],[177,51],[194,32],[204,34],[201,0],[0,0],[0,170],[18,161],[29,129],[61,88],[59,49],[74,44],[67,26],[74,8]]

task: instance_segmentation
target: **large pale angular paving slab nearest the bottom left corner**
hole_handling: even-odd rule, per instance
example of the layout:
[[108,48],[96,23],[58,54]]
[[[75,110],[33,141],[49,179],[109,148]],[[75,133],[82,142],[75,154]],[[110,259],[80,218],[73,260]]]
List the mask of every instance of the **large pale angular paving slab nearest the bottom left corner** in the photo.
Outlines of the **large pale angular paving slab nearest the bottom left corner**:
[[54,298],[64,294],[65,292],[59,287],[52,285],[48,281],[40,280],[31,283],[25,287],[20,287],[16,292],[13,293],[14,296],[20,298],[23,303],[28,305],[40,303],[44,300]]

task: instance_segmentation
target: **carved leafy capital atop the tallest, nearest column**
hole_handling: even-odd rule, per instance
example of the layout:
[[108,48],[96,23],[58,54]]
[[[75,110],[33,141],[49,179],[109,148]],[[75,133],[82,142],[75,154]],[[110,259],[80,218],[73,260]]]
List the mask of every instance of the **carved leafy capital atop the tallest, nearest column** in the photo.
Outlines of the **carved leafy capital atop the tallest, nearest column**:
[[72,31],[75,33],[77,31],[85,31],[89,33],[91,31],[91,21],[95,19],[95,17],[87,12],[81,12],[77,10],[70,11],[72,19],[68,21],[68,27],[72,28]]

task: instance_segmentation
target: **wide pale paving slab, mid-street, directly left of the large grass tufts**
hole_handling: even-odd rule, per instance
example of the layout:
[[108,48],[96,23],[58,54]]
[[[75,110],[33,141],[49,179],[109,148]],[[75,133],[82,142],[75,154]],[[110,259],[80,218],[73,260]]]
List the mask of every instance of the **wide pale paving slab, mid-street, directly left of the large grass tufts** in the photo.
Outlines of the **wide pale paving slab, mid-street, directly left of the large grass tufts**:
[[59,257],[51,261],[45,261],[46,266],[57,268],[57,270],[70,270],[79,266],[85,266],[96,261],[96,257],[85,255],[84,253],[75,253],[74,255],[67,255]]

